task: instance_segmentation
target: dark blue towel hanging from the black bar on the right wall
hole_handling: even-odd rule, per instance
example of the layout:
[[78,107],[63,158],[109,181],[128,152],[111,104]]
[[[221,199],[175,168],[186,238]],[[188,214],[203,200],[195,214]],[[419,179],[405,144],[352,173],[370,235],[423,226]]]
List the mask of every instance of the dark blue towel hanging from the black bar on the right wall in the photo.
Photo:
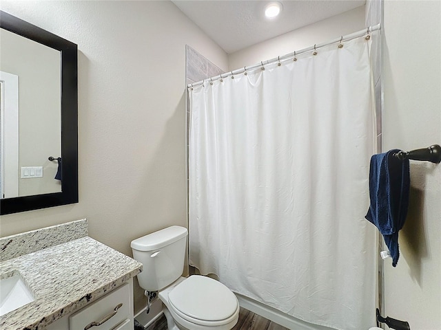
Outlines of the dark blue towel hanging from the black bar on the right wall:
[[400,160],[393,149],[371,157],[369,170],[369,196],[371,205],[366,219],[371,221],[384,237],[384,242],[396,267],[398,251],[398,230],[404,225],[409,206],[409,159]]

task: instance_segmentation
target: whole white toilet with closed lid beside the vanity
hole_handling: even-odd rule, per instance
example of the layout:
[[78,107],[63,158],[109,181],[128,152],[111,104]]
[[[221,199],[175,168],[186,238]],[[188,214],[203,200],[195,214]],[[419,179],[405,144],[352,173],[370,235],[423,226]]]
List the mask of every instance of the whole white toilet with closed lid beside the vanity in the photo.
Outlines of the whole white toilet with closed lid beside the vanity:
[[173,225],[132,241],[134,259],[143,263],[139,285],[158,292],[169,330],[230,330],[239,317],[233,292],[213,278],[181,276],[187,234]]

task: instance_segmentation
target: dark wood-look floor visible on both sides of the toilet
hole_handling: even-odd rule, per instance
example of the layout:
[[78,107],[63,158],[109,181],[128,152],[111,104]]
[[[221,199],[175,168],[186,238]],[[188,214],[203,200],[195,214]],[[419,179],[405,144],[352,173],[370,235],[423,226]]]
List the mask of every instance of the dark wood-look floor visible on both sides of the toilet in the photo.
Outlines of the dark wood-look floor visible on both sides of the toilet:
[[[167,320],[162,315],[146,330],[167,330]],[[232,330],[288,330],[262,316],[252,313],[247,309],[240,307],[239,320]]]

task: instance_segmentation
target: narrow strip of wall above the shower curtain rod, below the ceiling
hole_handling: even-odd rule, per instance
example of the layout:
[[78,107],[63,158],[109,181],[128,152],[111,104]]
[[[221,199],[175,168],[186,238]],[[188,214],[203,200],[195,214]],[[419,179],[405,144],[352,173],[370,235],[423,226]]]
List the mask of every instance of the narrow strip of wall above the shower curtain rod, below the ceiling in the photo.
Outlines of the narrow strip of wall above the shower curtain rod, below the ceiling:
[[365,28],[365,6],[307,25],[228,55],[229,71],[254,65]]

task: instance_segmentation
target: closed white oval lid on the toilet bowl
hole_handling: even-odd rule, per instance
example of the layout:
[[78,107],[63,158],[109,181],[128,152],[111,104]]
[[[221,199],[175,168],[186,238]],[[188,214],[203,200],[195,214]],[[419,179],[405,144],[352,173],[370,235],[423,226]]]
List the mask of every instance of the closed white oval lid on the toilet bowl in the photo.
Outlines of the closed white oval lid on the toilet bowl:
[[193,275],[168,294],[168,300],[182,314],[204,321],[225,320],[237,309],[237,298],[213,278]]

